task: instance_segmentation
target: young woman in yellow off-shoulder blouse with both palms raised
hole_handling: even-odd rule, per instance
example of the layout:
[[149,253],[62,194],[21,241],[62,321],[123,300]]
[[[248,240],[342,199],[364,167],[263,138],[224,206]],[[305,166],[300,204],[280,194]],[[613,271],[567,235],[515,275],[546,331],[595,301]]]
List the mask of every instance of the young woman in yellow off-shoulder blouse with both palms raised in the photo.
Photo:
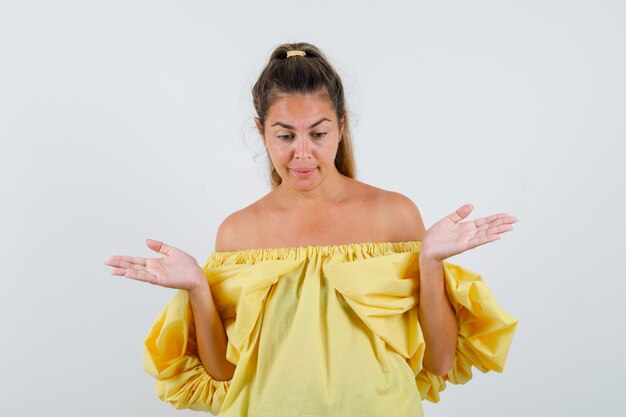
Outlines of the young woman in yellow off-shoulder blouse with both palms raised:
[[471,366],[501,371],[517,320],[481,277],[444,260],[517,219],[425,230],[402,194],[355,179],[341,80],[307,43],[281,45],[253,88],[272,190],[228,216],[203,267],[114,256],[112,274],[180,291],[145,342],[176,408],[229,416],[421,416]]

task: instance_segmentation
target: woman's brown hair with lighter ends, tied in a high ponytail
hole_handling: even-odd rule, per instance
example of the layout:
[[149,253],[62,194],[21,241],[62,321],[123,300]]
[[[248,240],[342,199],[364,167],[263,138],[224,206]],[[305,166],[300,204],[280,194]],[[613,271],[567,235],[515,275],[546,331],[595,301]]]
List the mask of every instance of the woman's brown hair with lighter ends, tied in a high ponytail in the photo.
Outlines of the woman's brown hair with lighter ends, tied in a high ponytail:
[[[305,55],[289,54],[291,56],[288,57],[289,51],[303,51]],[[322,51],[310,43],[286,43],[272,52],[269,62],[252,88],[252,98],[261,126],[265,126],[267,112],[278,96],[319,92],[323,92],[328,97],[337,120],[344,117],[346,104],[343,84]],[[269,157],[268,162],[272,189],[274,189],[282,183],[282,178]],[[352,135],[347,117],[339,138],[335,167],[347,177],[356,177]]]

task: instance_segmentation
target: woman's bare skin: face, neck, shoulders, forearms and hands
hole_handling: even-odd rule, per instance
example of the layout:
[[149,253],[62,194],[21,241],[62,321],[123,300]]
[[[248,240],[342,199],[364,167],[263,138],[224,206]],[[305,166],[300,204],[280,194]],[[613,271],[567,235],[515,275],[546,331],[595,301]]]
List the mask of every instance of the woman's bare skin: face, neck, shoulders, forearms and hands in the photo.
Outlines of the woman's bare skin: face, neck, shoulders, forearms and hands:
[[[465,204],[425,229],[415,204],[340,174],[334,158],[346,120],[337,118],[324,94],[284,95],[256,125],[282,184],[228,216],[215,250],[338,245],[357,242],[421,241],[420,325],[426,349],[423,365],[436,375],[452,367],[458,337],[455,312],[444,285],[442,261],[493,242],[512,230],[514,216],[499,213],[472,221]],[[306,176],[298,170],[309,170]],[[215,379],[232,378],[226,361],[227,336],[208,283],[197,261],[180,249],[148,239],[160,258],[113,256],[113,275],[187,290],[196,322],[200,359]]]

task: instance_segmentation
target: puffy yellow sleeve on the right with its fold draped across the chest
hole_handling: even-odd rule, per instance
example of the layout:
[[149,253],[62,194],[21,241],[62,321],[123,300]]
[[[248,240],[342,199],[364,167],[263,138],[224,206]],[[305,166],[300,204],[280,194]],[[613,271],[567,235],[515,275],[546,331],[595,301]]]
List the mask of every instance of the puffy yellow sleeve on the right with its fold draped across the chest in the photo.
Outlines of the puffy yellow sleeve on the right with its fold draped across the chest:
[[446,292],[459,325],[452,369],[439,377],[423,369],[424,335],[418,320],[419,251],[331,261],[324,273],[361,320],[406,358],[422,399],[439,401],[446,381],[464,384],[472,366],[501,372],[517,320],[496,302],[481,276],[443,263]]

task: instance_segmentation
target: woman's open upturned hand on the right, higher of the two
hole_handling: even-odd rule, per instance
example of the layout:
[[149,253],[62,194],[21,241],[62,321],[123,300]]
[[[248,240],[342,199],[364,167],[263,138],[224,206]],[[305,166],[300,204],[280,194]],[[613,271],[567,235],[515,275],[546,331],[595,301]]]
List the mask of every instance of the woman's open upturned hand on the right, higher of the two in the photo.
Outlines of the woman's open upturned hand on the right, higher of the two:
[[420,257],[441,262],[476,246],[500,239],[500,234],[513,230],[511,225],[517,222],[515,216],[506,213],[461,222],[473,209],[471,204],[465,204],[426,230]]

